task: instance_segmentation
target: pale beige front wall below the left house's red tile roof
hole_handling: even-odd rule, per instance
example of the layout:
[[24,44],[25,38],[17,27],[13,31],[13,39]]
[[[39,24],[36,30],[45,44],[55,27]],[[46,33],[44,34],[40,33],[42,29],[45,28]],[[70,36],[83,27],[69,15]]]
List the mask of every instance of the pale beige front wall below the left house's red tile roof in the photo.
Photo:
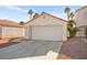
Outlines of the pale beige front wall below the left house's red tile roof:
[[2,37],[24,36],[24,28],[2,26]]

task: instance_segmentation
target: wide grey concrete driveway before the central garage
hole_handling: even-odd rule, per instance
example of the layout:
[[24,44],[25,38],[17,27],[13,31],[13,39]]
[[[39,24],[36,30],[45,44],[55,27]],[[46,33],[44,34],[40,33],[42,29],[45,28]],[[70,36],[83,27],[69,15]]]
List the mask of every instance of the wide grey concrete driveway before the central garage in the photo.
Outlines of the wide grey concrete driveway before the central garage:
[[22,58],[46,55],[48,51],[58,53],[63,42],[14,40],[0,46],[0,59]]

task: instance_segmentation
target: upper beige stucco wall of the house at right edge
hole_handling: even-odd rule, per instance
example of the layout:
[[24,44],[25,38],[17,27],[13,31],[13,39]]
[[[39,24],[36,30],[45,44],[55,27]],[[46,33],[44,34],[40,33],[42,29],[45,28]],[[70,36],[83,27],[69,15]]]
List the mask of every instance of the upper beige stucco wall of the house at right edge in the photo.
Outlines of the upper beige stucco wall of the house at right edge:
[[74,20],[77,26],[87,25],[87,8],[77,11]]

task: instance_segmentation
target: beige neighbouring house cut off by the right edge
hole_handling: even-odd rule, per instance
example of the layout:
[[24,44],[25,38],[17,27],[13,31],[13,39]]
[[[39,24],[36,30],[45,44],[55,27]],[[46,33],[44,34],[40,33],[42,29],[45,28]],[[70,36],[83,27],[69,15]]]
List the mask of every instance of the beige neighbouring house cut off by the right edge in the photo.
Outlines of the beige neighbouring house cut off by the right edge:
[[77,36],[85,36],[87,29],[87,7],[80,8],[75,12],[74,20],[78,28]]

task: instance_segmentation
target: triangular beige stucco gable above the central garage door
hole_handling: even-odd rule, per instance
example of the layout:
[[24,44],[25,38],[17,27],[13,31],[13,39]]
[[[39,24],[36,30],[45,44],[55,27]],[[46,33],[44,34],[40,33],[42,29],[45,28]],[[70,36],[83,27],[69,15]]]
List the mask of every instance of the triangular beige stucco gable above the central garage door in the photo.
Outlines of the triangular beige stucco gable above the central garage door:
[[[45,17],[45,18],[44,18]],[[47,14],[43,14],[37,19],[34,19],[29,23],[29,25],[64,25],[66,22],[53,17],[50,17]]]

